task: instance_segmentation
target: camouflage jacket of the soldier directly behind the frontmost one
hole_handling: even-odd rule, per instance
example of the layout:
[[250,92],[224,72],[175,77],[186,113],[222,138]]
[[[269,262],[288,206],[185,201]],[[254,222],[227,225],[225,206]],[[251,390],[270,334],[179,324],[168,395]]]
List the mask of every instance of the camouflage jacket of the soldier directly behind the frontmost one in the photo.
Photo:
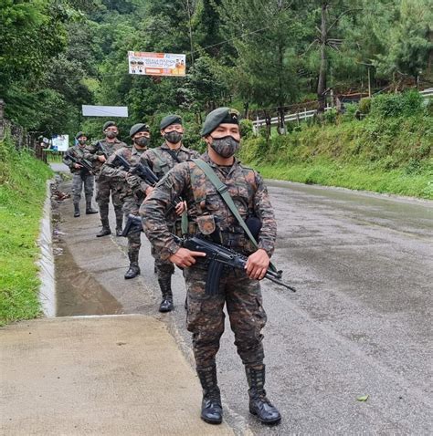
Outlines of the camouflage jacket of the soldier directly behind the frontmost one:
[[[178,161],[170,154],[171,152],[174,153]],[[187,149],[183,145],[177,151],[170,151],[170,147],[164,142],[161,147],[145,151],[142,155],[142,163],[148,165],[158,179],[161,180],[179,162],[196,159],[199,156],[200,154],[197,151]]]

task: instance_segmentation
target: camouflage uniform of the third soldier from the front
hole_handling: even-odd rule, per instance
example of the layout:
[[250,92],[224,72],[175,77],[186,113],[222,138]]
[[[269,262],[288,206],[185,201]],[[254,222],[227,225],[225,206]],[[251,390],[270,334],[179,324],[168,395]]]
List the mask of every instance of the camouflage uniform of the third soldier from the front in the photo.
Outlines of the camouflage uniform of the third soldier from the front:
[[[116,156],[121,156],[130,163],[131,166],[136,165],[140,161],[144,150],[136,149],[133,146],[126,146],[111,154],[109,160],[105,163],[102,169],[102,174],[105,177],[111,178],[113,184],[116,186],[118,192],[121,192],[121,200],[123,202],[122,211],[125,219],[132,213],[133,215],[139,214],[140,205],[146,196],[147,184],[143,182],[138,176],[124,171],[122,167],[115,168],[112,162]],[[138,256],[140,252],[141,233],[130,232],[128,234],[128,257],[131,264],[138,265]]]

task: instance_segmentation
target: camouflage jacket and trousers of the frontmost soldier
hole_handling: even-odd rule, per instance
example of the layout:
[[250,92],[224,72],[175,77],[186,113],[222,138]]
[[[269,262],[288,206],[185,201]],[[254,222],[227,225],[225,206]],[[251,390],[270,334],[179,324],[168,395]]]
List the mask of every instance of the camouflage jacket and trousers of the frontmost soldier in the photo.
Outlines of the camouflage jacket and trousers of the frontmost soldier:
[[[276,224],[259,174],[243,167],[239,161],[228,169],[214,164],[207,153],[203,159],[227,185],[241,216],[244,219],[248,216],[260,217],[259,247],[272,254]],[[164,213],[176,195],[181,195],[187,203],[190,233],[202,234],[200,228],[204,230],[217,226],[216,232],[220,233],[223,245],[246,255],[255,251],[215,186],[193,161],[188,161],[177,165],[141,208],[145,233],[162,260],[167,260],[178,248],[164,219]],[[204,231],[208,233],[208,230]],[[224,332],[225,302],[242,361],[245,365],[261,364],[263,348],[260,330],[265,326],[266,314],[261,306],[259,282],[249,279],[243,272],[226,271],[219,285],[219,294],[210,297],[205,294],[206,274],[206,261],[198,260],[196,265],[185,268],[188,298],[186,326],[193,333],[197,369],[215,365],[219,338]]]

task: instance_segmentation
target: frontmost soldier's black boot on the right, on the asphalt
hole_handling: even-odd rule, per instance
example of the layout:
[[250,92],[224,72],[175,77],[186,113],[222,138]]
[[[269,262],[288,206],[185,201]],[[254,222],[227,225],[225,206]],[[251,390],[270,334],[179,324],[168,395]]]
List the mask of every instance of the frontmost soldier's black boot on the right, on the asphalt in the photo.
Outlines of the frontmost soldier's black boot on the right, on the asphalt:
[[264,424],[278,424],[281,415],[275,406],[272,406],[266,397],[265,386],[265,366],[262,369],[245,367],[248,379],[249,412],[257,415]]

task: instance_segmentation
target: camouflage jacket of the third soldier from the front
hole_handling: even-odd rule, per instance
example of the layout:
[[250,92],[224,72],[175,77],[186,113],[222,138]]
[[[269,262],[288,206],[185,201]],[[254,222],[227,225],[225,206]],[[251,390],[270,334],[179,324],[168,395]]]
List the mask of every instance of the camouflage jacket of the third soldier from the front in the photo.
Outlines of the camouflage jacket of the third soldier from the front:
[[125,145],[125,147],[111,154],[100,171],[102,176],[119,182],[124,201],[127,201],[129,198],[131,201],[143,202],[148,185],[137,175],[125,171],[123,167],[114,167],[112,162],[116,159],[116,156],[121,156],[133,167],[140,161],[143,152],[144,150],[138,150],[133,146]]

